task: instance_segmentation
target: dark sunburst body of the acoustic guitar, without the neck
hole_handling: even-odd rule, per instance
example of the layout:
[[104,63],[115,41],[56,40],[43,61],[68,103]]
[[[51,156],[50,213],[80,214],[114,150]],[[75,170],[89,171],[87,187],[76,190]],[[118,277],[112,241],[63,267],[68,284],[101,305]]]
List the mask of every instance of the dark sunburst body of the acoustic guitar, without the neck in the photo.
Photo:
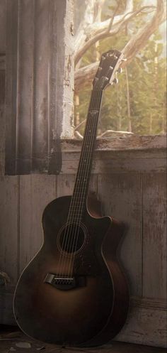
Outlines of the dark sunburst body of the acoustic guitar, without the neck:
[[[91,199],[78,247],[69,251],[62,239],[70,201],[71,196],[59,197],[43,212],[44,242],[18,281],[14,314],[21,329],[37,340],[91,347],[117,335],[127,317],[127,283],[117,261],[123,228],[100,217],[98,201]],[[58,279],[57,273],[62,274]]]

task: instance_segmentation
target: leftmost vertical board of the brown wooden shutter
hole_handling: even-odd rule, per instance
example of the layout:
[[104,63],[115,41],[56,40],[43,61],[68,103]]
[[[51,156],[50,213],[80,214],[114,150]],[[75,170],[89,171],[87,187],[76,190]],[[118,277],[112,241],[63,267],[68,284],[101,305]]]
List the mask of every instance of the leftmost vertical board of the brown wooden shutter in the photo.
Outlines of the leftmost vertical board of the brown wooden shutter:
[[[18,1],[6,1],[6,143],[8,175],[16,173],[16,92],[18,52]],[[13,136],[13,139],[11,138]],[[7,157],[8,156],[8,157]]]

